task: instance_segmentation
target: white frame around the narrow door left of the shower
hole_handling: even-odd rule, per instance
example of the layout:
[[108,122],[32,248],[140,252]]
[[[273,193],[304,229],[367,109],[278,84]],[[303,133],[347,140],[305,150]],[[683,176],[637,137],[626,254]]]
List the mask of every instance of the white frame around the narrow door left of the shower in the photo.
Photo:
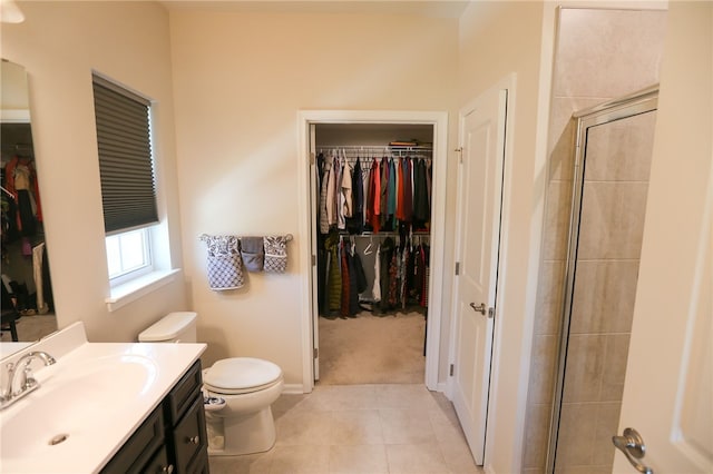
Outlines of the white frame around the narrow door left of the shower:
[[[514,171],[514,136],[515,136],[515,103],[516,103],[516,85],[517,85],[517,75],[509,73],[502,79],[495,82],[490,88],[484,90],[478,95],[476,99],[468,101],[463,107],[460,108],[458,112],[458,146],[462,146],[463,141],[463,127],[465,120],[468,113],[470,113],[473,109],[478,107],[478,103],[482,100],[481,98],[492,93],[494,91],[502,91],[507,92],[507,105],[505,111],[505,149],[502,152],[502,188],[501,188],[501,201],[500,201],[500,239],[499,239],[499,249],[498,249],[498,270],[497,270],[497,279],[496,279],[496,299],[495,299],[495,314],[494,314],[494,327],[492,327],[492,346],[491,346],[491,357],[490,357],[490,385],[488,387],[488,409],[486,417],[486,438],[485,438],[485,455],[484,455],[484,467],[488,471],[488,462],[490,456],[494,454],[495,446],[494,443],[494,434],[496,431],[496,413],[497,404],[498,404],[498,386],[500,385],[500,366],[505,365],[508,358],[507,354],[500,354],[500,347],[502,340],[505,338],[504,335],[504,318],[502,318],[502,309],[506,307],[506,287],[507,287],[507,263],[508,263],[508,229],[511,227],[510,225],[510,206],[512,200],[512,171]],[[458,196],[458,213],[460,213],[460,186],[461,180],[458,180],[459,188],[457,189]],[[458,214],[459,215],[459,214]],[[455,247],[456,251],[458,247]],[[459,258],[460,256],[456,256]],[[457,307],[457,297],[458,290],[457,285],[452,285],[451,294],[450,294],[450,306],[451,308]],[[456,357],[456,325],[451,322],[450,325],[450,335],[449,335],[449,352],[448,352],[448,363],[453,364]],[[505,369],[506,367],[504,367]],[[446,395],[449,399],[452,399],[453,394],[453,377],[448,378]],[[515,450],[517,453],[521,452],[521,446]]]

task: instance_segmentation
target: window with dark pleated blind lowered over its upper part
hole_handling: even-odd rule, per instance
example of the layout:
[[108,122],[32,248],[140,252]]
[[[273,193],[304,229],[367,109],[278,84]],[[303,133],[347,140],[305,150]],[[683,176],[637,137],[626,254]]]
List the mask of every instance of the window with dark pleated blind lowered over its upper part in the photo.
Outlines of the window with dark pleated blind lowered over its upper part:
[[94,75],[107,263],[111,285],[153,268],[149,227],[158,223],[150,101]]

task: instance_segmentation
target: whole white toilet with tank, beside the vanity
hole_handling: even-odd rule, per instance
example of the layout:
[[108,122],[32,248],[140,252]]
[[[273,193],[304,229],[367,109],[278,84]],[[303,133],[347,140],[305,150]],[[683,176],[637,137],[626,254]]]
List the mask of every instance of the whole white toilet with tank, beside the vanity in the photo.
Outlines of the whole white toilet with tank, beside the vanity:
[[[140,343],[196,343],[193,312],[169,313],[143,330]],[[272,404],[282,394],[282,369],[253,357],[217,361],[203,371],[208,454],[237,456],[275,444]]]

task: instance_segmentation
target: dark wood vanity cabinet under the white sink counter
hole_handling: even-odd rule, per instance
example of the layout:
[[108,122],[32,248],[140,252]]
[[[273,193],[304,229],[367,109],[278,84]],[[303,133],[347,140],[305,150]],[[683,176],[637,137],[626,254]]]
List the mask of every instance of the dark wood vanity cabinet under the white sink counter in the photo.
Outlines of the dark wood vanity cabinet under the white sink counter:
[[101,472],[207,474],[202,384],[197,361]]

